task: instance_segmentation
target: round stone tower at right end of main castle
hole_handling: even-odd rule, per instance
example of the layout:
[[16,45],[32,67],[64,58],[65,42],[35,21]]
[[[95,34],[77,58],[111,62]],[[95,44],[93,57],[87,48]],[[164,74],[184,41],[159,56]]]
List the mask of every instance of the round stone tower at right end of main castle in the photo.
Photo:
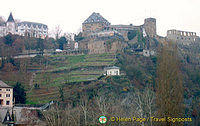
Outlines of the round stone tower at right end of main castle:
[[156,19],[155,18],[146,18],[144,20],[143,28],[145,29],[146,34],[149,37],[156,37]]

